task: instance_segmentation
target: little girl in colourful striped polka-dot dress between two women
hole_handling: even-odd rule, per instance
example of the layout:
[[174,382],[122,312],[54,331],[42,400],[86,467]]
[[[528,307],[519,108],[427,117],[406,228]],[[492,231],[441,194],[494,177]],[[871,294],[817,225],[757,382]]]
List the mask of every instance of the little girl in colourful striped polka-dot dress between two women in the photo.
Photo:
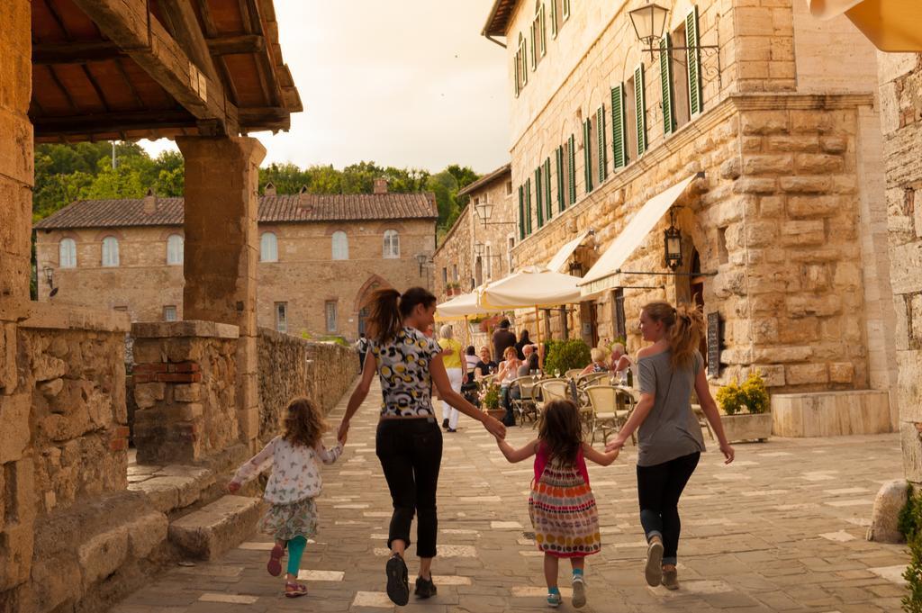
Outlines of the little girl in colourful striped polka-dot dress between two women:
[[499,438],[496,442],[510,462],[535,456],[528,514],[538,549],[544,551],[548,604],[551,607],[561,604],[558,562],[569,558],[573,566],[573,607],[583,607],[585,557],[602,548],[596,497],[589,487],[585,458],[609,466],[618,457],[618,450],[602,453],[583,442],[579,409],[569,400],[554,400],[545,405],[538,438],[525,447],[513,449]]

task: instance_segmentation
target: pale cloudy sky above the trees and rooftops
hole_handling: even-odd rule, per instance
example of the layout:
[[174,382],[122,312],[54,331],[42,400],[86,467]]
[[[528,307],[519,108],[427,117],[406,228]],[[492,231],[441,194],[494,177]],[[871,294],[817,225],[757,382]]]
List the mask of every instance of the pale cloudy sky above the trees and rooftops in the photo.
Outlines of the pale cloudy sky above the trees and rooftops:
[[[264,165],[354,162],[492,171],[509,160],[502,47],[480,36],[493,0],[275,0],[304,111],[254,133]],[[141,141],[152,155],[172,141]]]

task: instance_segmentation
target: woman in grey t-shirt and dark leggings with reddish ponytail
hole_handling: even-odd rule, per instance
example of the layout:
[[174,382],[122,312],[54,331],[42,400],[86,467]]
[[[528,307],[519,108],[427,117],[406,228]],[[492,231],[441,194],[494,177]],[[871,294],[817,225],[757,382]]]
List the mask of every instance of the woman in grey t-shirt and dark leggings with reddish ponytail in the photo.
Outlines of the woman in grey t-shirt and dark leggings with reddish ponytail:
[[711,396],[698,346],[703,335],[701,312],[687,305],[673,308],[650,302],[640,313],[640,331],[652,345],[637,354],[640,402],[606,451],[621,449],[637,430],[637,497],[647,540],[646,583],[679,589],[679,498],[704,451],[701,426],[691,410],[691,391],[698,395],[726,464],[733,461],[717,405]]

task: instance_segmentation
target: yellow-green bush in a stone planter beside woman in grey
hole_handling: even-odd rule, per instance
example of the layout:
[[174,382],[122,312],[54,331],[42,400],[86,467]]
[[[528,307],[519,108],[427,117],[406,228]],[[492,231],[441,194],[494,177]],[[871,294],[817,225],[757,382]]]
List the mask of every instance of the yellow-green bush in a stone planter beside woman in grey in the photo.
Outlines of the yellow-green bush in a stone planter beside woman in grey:
[[717,390],[716,400],[725,414],[720,420],[727,441],[762,442],[771,436],[771,399],[759,371],[751,371],[742,385],[736,378],[722,385]]

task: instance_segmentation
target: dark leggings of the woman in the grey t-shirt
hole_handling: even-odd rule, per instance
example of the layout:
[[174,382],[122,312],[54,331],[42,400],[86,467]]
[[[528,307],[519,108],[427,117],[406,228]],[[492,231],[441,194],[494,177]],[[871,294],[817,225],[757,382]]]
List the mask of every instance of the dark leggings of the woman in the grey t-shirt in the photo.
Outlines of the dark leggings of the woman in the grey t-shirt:
[[663,539],[663,563],[675,564],[679,551],[679,497],[698,466],[701,453],[683,455],[654,466],[637,466],[637,497],[640,523],[647,540]]

